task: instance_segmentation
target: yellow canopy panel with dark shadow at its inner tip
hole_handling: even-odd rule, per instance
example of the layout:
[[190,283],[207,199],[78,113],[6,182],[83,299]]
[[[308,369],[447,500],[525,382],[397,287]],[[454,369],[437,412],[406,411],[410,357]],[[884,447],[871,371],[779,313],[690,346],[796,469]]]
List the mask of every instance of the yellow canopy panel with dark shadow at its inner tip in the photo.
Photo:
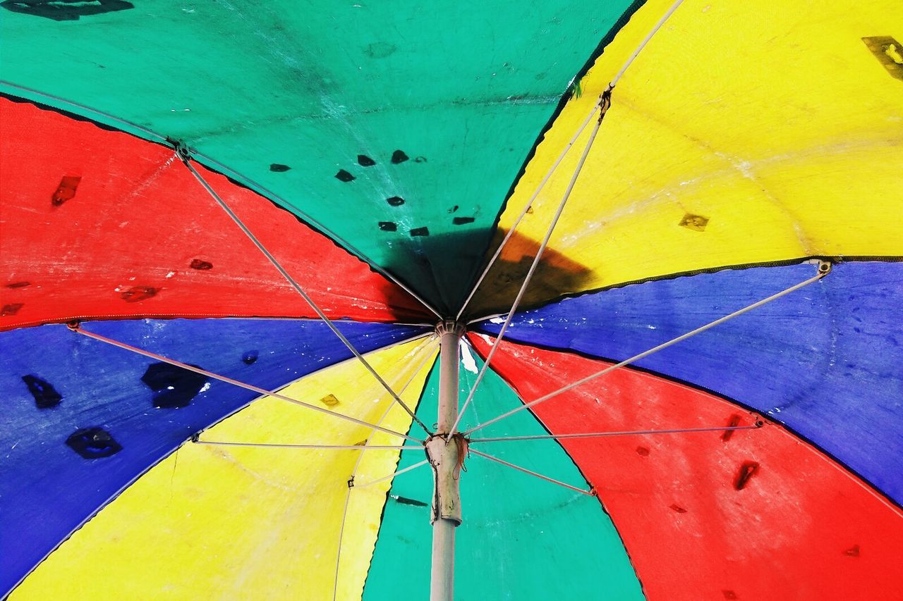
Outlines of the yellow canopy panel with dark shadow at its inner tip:
[[[500,220],[510,229],[673,0],[650,0],[580,82]],[[686,0],[612,93],[526,293],[535,304],[676,273],[804,257],[903,255],[898,0]],[[896,52],[896,53],[895,53]],[[517,227],[474,313],[503,310],[591,127]]]

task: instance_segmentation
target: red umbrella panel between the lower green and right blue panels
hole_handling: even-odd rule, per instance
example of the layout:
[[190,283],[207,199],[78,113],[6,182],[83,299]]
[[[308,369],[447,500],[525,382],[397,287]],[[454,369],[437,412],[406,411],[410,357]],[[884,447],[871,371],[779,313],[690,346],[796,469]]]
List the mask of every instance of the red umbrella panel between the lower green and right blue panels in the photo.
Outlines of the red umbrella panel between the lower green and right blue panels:
[[[492,339],[470,340],[486,356]],[[503,342],[491,365],[529,402],[610,364]],[[755,420],[629,368],[533,411],[556,434]],[[879,599],[898,590],[903,513],[773,423],[561,444],[598,491],[649,599]]]

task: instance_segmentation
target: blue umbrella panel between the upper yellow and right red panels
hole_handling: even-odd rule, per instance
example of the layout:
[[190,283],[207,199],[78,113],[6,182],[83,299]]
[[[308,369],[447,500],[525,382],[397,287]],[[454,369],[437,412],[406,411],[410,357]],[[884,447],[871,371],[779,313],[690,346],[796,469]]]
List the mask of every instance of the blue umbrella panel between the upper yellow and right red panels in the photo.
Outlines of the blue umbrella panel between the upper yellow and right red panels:
[[[629,285],[518,314],[506,337],[622,361],[813,275],[815,265],[800,264]],[[900,307],[903,264],[838,264],[636,365],[786,424],[901,504]],[[479,329],[498,333],[493,321]]]

